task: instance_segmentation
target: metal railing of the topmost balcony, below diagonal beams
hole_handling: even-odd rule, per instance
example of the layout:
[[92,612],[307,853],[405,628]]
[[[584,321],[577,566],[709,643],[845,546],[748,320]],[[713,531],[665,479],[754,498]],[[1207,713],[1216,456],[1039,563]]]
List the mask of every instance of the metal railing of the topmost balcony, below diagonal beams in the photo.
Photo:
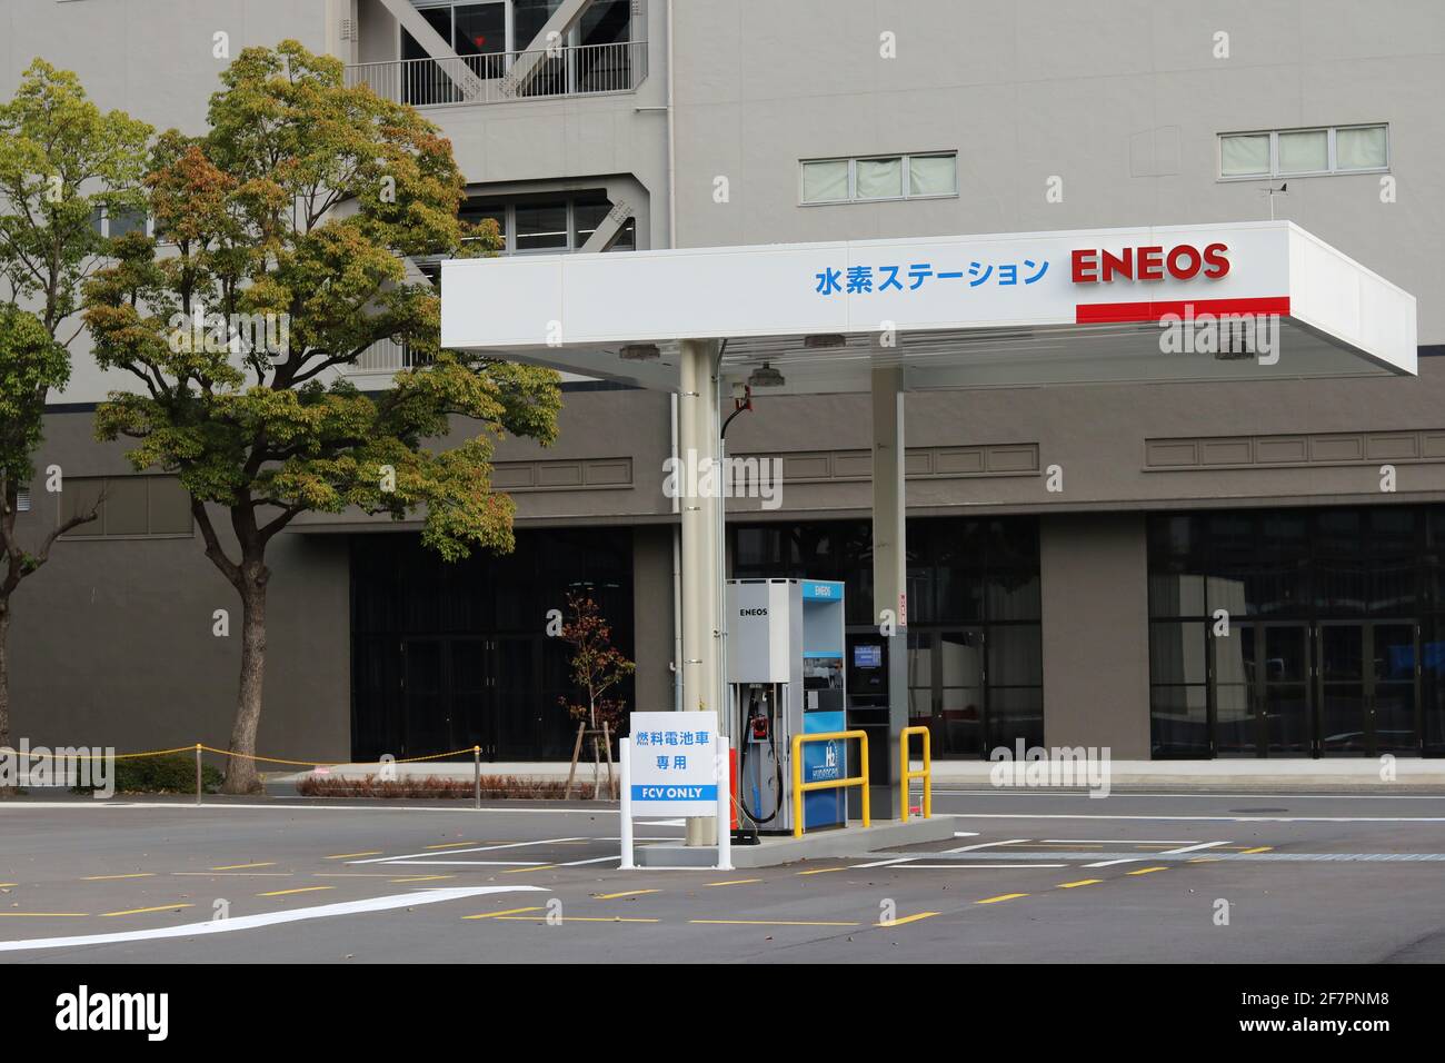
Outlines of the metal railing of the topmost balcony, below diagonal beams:
[[646,77],[646,40],[347,67],[347,85],[413,107],[630,93]]

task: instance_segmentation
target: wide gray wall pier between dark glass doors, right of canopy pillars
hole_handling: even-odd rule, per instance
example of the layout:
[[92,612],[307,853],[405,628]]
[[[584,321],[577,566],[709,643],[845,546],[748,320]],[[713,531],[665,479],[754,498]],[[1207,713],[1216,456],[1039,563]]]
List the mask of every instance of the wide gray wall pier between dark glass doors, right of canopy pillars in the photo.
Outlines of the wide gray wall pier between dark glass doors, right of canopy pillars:
[[1043,740],[1149,759],[1149,581],[1140,513],[1045,516]]

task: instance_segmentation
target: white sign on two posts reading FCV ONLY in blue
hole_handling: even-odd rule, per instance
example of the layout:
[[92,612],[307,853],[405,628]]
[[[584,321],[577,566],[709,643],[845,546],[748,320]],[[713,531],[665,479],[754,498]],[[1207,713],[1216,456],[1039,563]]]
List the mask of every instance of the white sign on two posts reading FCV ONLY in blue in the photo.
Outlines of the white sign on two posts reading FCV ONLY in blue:
[[621,740],[621,868],[633,861],[633,816],[717,819],[718,871],[733,869],[728,740],[711,713],[633,713]]

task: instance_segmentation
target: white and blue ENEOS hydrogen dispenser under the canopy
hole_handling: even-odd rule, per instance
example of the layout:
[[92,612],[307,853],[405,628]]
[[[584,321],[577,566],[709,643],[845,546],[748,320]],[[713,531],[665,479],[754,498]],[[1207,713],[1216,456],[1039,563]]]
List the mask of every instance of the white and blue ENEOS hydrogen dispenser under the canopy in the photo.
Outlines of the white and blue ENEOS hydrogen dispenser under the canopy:
[[[793,735],[847,729],[842,583],[728,580],[728,720],[740,840],[793,830]],[[805,742],[803,781],[848,778],[848,743]],[[808,830],[847,823],[847,790],[803,794]]]

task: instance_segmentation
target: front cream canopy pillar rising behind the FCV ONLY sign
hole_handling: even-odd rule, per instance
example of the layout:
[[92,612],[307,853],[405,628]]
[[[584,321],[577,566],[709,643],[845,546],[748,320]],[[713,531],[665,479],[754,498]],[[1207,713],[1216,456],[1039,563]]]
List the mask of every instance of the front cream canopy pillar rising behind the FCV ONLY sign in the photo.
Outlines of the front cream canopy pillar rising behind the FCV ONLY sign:
[[[712,377],[715,340],[682,340],[678,396],[678,448],[682,469],[682,709],[707,712],[709,729],[721,722],[722,673],[720,667],[718,616],[722,570],[718,515],[722,505],[718,460],[718,390]],[[717,487],[714,490],[712,487]],[[715,824],[705,817],[688,819],[688,845],[717,845]]]

